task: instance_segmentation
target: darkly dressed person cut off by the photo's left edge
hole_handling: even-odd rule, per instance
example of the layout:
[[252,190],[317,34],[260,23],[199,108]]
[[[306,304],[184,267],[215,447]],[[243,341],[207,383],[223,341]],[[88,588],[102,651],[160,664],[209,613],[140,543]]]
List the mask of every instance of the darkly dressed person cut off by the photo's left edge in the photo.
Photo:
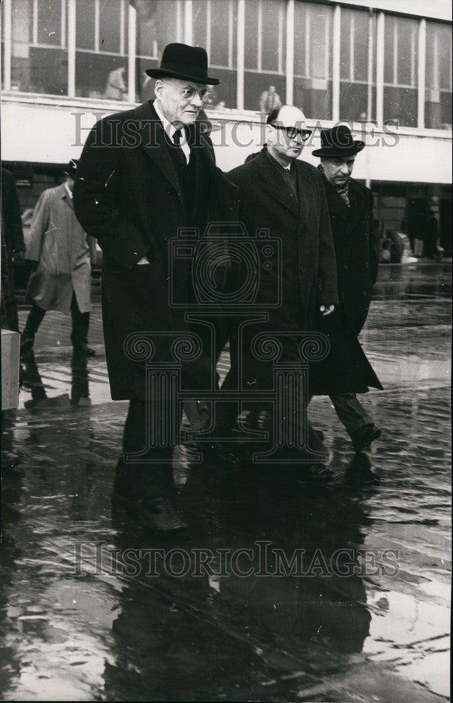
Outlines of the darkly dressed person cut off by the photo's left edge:
[[20,217],[20,204],[15,178],[10,171],[1,169],[1,236],[4,243],[2,269],[6,324],[13,332],[19,331],[18,309],[15,303],[14,266],[25,262],[25,244]]

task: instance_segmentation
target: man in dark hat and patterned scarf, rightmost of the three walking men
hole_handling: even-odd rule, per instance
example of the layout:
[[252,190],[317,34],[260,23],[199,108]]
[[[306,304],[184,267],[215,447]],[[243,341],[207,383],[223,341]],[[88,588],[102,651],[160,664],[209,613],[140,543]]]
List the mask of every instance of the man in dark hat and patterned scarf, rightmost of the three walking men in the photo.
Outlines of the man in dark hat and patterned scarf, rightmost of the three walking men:
[[356,155],[365,144],[355,140],[350,128],[339,124],[321,130],[321,159],[333,243],[337,262],[339,304],[330,319],[318,318],[319,329],[331,342],[324,361],[312,364],[312,394],[331,397],[338,418],[345,425],[357,452],[378,439],[381,430],[357,400],[369,386],[382,389],[357,340],[368,314],[376,283],[378,258],[373,231],[373,195],[351,178]]

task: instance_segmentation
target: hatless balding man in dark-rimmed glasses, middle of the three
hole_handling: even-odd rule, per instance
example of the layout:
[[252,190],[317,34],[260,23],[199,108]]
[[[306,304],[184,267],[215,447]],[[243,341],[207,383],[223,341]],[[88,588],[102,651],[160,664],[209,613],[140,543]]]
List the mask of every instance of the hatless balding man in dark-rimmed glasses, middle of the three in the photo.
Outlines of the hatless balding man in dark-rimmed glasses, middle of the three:
[[[279,363],[300,365],[298,333],[310,330],[317,309],[328,315],[338,302],[324,186],[317,169],[298,159],[310,134],[301,110],[291,105],[276,108],[267,117],[264,148],[253,160],[228,174],[240,189],[241,220],[248,235],[268,231],[269,238],[278,240],[281,248],[281,260],[267,257],[260,262],[255,302],[260,311],[267,309],[269,320],[246,325],[243,330],[242,358],[238,361],[243,387],[266,391],[272,388],[272,364],[260,361],[252,351],[256,335],[281,335],[285,341]],[[281,302],[275,307],[279,287]],[[232,370],[225,388],[233,385],[238,371],[234,366],[237,345],[238,340],[231,340]],[[302,398],[299,401],[302,404]],[[247,423],[250,429],[271,425],[269,406],[262,402],[253,404]],[[300,458],[310,458],[313,451],[324,449],[310,427],[309,444],[305,450],[296,451]]]

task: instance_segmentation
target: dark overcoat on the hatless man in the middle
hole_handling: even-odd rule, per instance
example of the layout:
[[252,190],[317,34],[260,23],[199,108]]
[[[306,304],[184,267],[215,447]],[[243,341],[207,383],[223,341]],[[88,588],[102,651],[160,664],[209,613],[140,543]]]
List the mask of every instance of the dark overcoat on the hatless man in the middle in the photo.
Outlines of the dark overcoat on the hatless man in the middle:
[[[294,167],[297,199],[291,196],[266,148],[228,174],[241,192],[241,221],[248,236],[259,243],[259,231],[267,231],[271,241],[281,243],[281,261],[267,262],[265,255],[260,261],[257,312],[266,311],[269,317],[267,321],[248,323],[238,335],[231,336],[231,369],[225,388],[236,383],[239,369],[244,388],[272,387],[272,363],[257,361],[253,352],[255,335],[285,333],[281,360],[298,365],[297,333],[310,330],[319,305],[338,302],[335,252],[321,174],[300,160]],[[281,304],[272,309],[268,303],[272,302],[272,280],[275,283],[277,278],[272,273],[274,266],[279,270]]]

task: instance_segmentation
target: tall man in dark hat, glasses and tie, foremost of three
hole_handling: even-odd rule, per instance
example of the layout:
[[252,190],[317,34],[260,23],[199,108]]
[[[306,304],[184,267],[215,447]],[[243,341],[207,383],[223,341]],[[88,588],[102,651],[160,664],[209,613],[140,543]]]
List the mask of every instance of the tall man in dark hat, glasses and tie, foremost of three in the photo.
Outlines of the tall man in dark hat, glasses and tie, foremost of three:
[[[170,420],[148,416],[146,360],[132,359],[125,342],[141,334],[155,345],[153,361],[174,361],[170,341],[189,330],[184,300],[193,299],[193,287],[189,259],[170,260],[170,240],[181,228],[203,233],[211,221],[235,221],[238,198],[198,124],[209,86],[219,84],[208,75],[205,49],[168,44],[160,67],[146,74],[156,79],[155,100],[96,123],[84,146],[74,198],[79,221],[103,250],[111,394],[129,400],[113,501],[145,527],[168,532],[184,527],[172,503],[174,447],[155,446],[147,437],[151,423]],[[172,304],[175,286],[182,308]],[[170,390],[167,400],[179,407],[176,392]],[[140,461],[126,457],[141,452]]]

